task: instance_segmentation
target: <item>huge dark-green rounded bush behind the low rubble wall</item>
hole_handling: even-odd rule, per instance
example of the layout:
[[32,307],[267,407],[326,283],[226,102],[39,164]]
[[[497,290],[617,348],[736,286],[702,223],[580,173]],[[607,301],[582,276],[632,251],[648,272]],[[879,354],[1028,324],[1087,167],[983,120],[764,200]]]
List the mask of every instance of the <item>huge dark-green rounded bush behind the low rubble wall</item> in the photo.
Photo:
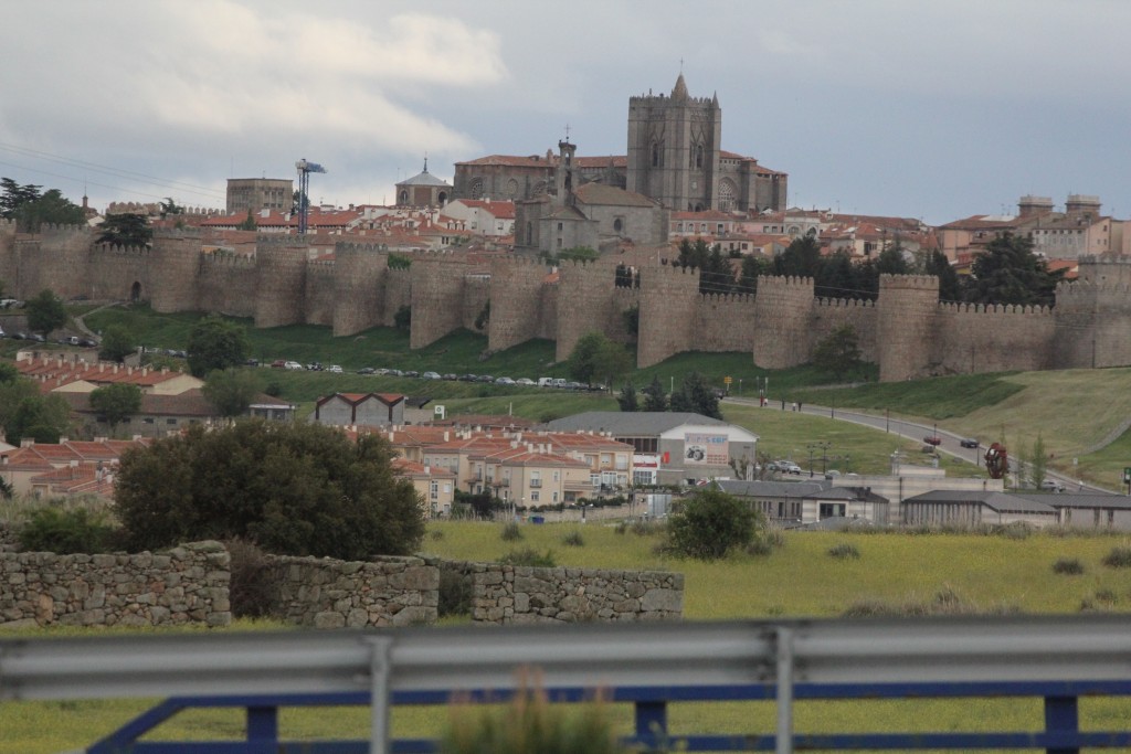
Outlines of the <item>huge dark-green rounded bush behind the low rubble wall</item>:
[[122,454],[114,510],[139,549],[240,538],[276,554],[408,555],[424,509],[392,457],[379,435],[321,424],[197,425]]

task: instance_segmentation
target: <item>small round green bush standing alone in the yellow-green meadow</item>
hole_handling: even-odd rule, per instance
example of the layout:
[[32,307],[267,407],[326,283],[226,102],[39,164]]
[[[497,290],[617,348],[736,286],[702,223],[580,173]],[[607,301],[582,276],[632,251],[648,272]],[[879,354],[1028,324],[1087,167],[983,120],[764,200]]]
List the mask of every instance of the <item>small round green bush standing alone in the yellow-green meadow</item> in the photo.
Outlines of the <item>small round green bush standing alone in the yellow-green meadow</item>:
[[716,485],[683,501],[667,522],[668,544],[681,555],[717,561],[750,545],[765,520]]

